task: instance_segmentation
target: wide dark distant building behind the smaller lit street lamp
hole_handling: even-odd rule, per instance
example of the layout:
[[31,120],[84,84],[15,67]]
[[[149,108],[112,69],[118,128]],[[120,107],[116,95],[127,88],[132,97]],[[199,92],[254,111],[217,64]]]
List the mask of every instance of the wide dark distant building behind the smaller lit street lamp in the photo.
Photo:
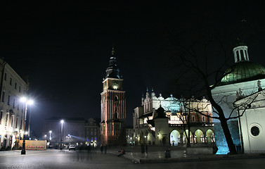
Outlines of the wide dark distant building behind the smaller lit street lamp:
[[[63,123],[62,121],[63,120]],[[51,132],[50,132],[51,131]],[[50,137],[51,134],[51,137]],[[43,139],[52,146],[84,145],[85,120],[84,118],[58,118],[53,117],[43,121]],[[46,137],[45,137],[46,135]]]

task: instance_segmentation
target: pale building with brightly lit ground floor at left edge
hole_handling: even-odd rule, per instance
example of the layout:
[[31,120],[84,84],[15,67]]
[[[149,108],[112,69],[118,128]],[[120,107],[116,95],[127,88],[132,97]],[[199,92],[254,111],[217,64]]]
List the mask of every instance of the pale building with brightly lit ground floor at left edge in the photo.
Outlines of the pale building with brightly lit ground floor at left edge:
[[[24,137],[25,104],[20,98],[27,93],[28,84],[0,58],[0,148],[18,148],[18,142]],[[28,112],[30,109],[28,109]],[[27,121],[28,123],[28,121]]]

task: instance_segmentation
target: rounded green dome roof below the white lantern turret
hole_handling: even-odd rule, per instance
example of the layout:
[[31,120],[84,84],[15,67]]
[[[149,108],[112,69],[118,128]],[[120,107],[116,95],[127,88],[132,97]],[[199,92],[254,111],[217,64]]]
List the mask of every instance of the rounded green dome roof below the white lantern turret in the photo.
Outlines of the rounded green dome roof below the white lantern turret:
[[235,65],[226,70],[226,73],[228,74],[221,79],[218,86],[265,78],[265,68],[262,65],[250,61],[235,63]]

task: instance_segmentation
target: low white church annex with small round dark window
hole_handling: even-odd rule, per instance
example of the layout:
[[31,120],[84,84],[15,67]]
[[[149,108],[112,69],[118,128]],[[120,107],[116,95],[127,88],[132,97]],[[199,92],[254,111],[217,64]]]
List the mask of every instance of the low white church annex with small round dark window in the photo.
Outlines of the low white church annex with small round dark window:
[[265,153],[265,90],[259,88],[257,92],[239,99],[234,103],[238,108],[238,127],[243,152],[246,154]]

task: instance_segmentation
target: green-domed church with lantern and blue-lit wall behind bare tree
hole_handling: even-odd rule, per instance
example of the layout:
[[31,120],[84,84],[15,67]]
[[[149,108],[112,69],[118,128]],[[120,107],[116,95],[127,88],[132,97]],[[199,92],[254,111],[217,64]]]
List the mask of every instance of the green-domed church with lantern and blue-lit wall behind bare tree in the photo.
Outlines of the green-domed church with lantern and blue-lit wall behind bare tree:
[[[222,78],[219,86],[212,89],[212,96],[223,108],[226,118],[229,115],[231,117],[237,116],[237,111],[233,110],[233,103],[237,99],[257,92],[258,81],[261,82],[261,87],[263,88],[265,84],[265,68],[257,63],[250,62],[245,44],[241,43],[235,46],[233,54],[235,64],[226,70],[226,75]],[[228,120],[227,123],[237,151],[242,151],[238,119]],[[214,121],[214,131],[216,146],[219,149],[217,154],[227,154],[228,146],[219,121]]]

